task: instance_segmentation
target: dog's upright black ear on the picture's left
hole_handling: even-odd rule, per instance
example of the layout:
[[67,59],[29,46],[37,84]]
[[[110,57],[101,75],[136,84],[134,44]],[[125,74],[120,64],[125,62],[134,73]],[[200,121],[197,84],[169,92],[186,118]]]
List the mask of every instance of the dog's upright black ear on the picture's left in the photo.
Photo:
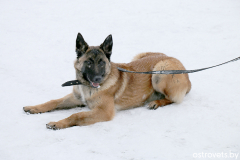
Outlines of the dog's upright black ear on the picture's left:
[[76,39],[77,58],[81,57],[86,52],[87,49],[88,49],[88,44],[83,39],[83,36],[80,33],[78,33],[77,39]]

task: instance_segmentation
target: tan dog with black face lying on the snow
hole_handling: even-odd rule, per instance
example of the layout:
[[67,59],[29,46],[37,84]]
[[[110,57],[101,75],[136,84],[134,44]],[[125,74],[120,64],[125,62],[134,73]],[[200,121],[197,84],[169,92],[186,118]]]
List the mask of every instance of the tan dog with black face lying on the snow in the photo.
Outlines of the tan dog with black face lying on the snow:
[[134,74],[121,72],[117,67],[138,71],[185,70],[182,63],[163,53],[141,53],[130,63],[110,61],[113,40],[109,35],[100,46],[89,46],[82,35],[76,39],[77,58],[74,62],[76,79],[73,92],[63,98],[51,100],[23,110],[31,114],[54,109],[87,105],[91,110],[71,115],[58,122],[50,122],[48,129],[63,129],[110,121],[117,110],[143,106],[157,109],[171,103],[181,103],[191,89],[188,74]]

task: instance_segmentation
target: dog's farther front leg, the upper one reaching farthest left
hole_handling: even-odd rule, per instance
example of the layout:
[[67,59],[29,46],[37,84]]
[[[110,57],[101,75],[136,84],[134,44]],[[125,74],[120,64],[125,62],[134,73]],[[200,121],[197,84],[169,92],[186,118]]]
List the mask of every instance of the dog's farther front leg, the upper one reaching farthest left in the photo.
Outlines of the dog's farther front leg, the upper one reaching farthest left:
[[35,114],[35,113],[48,112],[48,111],[51,111],[54,109],[72,108],[72,107],[76,107],[78,105],[82,105],[82,102],[79,99],[75,98],[73,93],[71,93],[63,98],[51,100],[51,101],[48,101],[43,104],[39,104],[36,106],[23,107],[23,110],[25,112]]

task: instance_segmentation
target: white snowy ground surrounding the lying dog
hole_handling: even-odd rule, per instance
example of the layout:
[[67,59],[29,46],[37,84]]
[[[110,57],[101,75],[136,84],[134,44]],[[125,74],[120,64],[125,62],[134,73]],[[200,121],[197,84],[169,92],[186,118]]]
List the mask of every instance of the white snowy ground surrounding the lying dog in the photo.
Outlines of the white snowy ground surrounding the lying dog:
[[239,57],[239,0],[1,0],[0,13],[1,160],[236,159],[230,156],[240,153],[240,61],[191,74],[192,90],[181,104],[120,111],[110,122],[52,131],[46,123],[88,109],[22,110],[71,92],[61,84],[75,78],[78,32],[90,45],[112,34],[114,62],[154,51],[197,69]]

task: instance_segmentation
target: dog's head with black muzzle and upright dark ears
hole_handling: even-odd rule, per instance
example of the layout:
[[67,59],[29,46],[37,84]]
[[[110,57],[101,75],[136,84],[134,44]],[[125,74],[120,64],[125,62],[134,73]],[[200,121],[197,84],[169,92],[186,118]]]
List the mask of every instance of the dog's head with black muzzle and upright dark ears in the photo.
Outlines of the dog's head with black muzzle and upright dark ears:
[[100,46],[88,46],[78,33],[76,40],[77,59],[74,62],[77,79],[86,86],[99,88],[111,72],[110,56],[113,40],[109,35]]

